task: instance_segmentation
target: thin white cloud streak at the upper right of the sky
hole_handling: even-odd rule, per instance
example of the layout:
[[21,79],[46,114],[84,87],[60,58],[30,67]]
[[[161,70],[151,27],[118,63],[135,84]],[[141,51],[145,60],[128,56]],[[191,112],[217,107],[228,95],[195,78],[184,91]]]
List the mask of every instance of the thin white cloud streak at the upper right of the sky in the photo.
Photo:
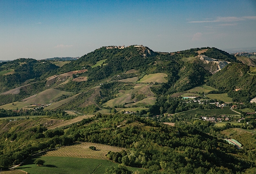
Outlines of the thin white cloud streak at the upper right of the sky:
[[189,21],[188,23],[206,23],[206,22],[234,22],[234,21],[245,21],[245,20],[256,20],[256,16],[243,16],[243,17],[217,17],[217,19],[206,19],[203,21]]

